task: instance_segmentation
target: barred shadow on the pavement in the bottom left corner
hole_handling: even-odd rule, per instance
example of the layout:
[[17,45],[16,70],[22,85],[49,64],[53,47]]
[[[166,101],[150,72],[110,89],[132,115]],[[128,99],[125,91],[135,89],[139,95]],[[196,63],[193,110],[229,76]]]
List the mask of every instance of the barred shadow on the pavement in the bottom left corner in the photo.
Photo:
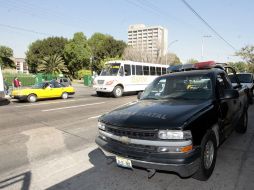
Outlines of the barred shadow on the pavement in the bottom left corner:
[[31,183],[31,172],[21,173],[19,175],[4,179],[0,181],[0,189],[17,189],[20,187],[21,190],[29,190]]

